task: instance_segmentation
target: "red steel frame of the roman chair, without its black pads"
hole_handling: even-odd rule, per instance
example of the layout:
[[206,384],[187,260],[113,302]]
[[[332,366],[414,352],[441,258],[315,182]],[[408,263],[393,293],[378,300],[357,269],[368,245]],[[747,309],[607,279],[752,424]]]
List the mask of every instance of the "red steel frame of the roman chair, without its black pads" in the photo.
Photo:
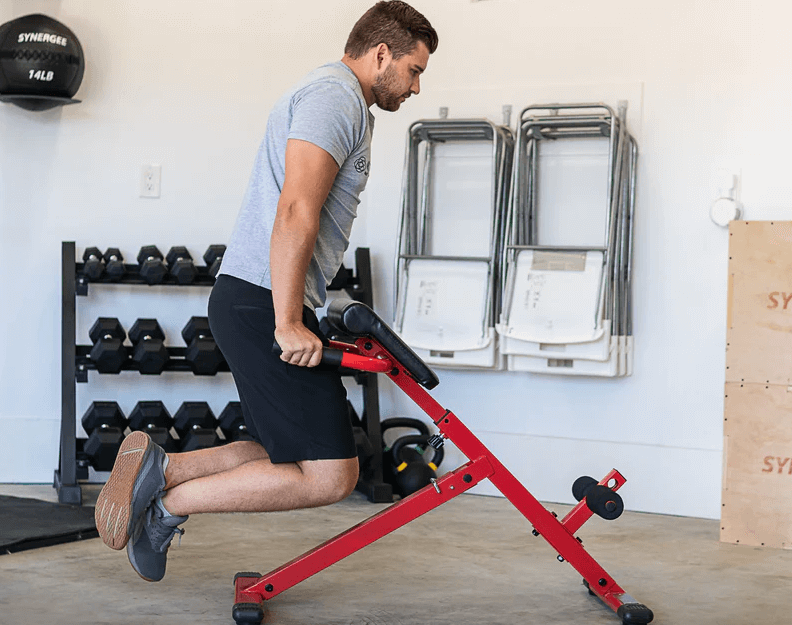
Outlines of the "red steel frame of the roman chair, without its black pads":
[[[342,366],[384,373],[426,412],[440,434],[454,442],[469,462],[446,473],[435,484],[401,499],[327,542],[295,558],[262,577],[237,575],[235,603],[260,604],[272,599],[304,579],[329,567],[470,490],[484,479],[495,487],[533,524],[534,533],[543,536],[583,576],[586,585],[614,611],[625,603],[635,603],[614,579],[583,548],[575,532],[592,516],[585,500],[580,501],[562,520],[548,511],[504,467],[495,455],[450,410],[438,404],[376,340],[358,339],[355,344],[331,341],[331,347],[346,352]],[[599,483],[618,490],[625,478],[615,469]]]

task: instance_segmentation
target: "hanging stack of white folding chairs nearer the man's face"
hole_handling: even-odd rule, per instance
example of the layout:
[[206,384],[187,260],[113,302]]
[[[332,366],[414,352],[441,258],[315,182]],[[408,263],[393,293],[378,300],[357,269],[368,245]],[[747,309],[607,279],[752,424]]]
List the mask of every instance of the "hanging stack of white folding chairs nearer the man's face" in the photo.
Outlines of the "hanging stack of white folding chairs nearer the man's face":
[[427,363],[499,369],[512,133],[485,119],[415,122],[407,136],[395,329]]

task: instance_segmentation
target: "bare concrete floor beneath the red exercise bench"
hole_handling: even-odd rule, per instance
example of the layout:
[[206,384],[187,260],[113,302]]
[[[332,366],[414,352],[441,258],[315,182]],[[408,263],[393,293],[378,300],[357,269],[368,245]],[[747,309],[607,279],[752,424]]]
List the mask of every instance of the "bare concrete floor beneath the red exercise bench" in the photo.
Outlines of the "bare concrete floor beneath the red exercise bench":
[[[86,487],[92,503],[96,487]],[[0,494],[56,500],[49,486]],[[162,582],[99,539],[0,556],[0,623],[233,625],[233,576],[266,573],[384,505],[195,515]],[[560,516],[568,506],[548,504]],[[463,495],[279,595],[273,625],[618,625],[505,499]],[[718,542],[718,522],[625,512],[578,533],[658,625],[789,622],[792,552]],[[175,541],[176,542],[176,541]]]

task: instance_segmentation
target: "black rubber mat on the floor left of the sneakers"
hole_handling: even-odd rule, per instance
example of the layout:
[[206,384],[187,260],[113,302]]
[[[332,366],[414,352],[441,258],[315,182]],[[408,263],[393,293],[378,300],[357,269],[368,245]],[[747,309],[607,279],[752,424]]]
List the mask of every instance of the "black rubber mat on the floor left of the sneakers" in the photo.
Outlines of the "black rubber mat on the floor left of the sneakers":
[[0,495],[0,555],[96,538],[93,507]]

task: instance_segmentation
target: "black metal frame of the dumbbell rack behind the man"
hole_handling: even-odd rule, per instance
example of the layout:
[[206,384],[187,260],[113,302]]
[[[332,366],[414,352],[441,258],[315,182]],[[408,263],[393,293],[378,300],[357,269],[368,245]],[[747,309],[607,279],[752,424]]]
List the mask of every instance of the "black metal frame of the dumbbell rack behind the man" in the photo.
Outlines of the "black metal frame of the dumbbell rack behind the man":
[[[88,479],[88,468],[77,462],[77,383],[88,382],[88,371],[95,370],[91,361],[90,345],[77,344],[77,297],[87,296],[89,284],[137,284],[147,285],[140,275],[140,265],[125,264],[126,273],[121,280],[110,280],[103,276],[99,280],[88,281],[83,274],[84,263],[76,262],[76,245],[73,241],[61,244],[61,429],[60,455],[58,468],[55,469],[53,487],[58,492],[60,503],[82,505],[82,487],[80,480]],[[373,304],[371,260],[368,248],[355,250],[357,275],[352,272],[339,272],[328,289],[345,289],[350,297],[363,302],[367,306]],[[179,284],[170,274],[160,283],[164,286],[178,287],[211,287],[214,277],[208,267],[196,266],[198,275],[188,285]],[[158,285],[158,286],[160,286]],[[186,347],[168,347],[169,361],[164,371],[192,372],[184,356]],[[122,371],[136,371],[137,366],[128,359]],[[229,371],[223,363],[221,372]],[[360,371],[343,371],[344,375],[353,375],[357,384],[363,387],[365,419],[363,428],[374,446],[375,455],[369,463],[366,479],[358,482],[357,489],[369,500],[376,503],[393,501],[390,484],[383,480],[382,475],[382,435],[380,433],[379,393],[377,376]]]

